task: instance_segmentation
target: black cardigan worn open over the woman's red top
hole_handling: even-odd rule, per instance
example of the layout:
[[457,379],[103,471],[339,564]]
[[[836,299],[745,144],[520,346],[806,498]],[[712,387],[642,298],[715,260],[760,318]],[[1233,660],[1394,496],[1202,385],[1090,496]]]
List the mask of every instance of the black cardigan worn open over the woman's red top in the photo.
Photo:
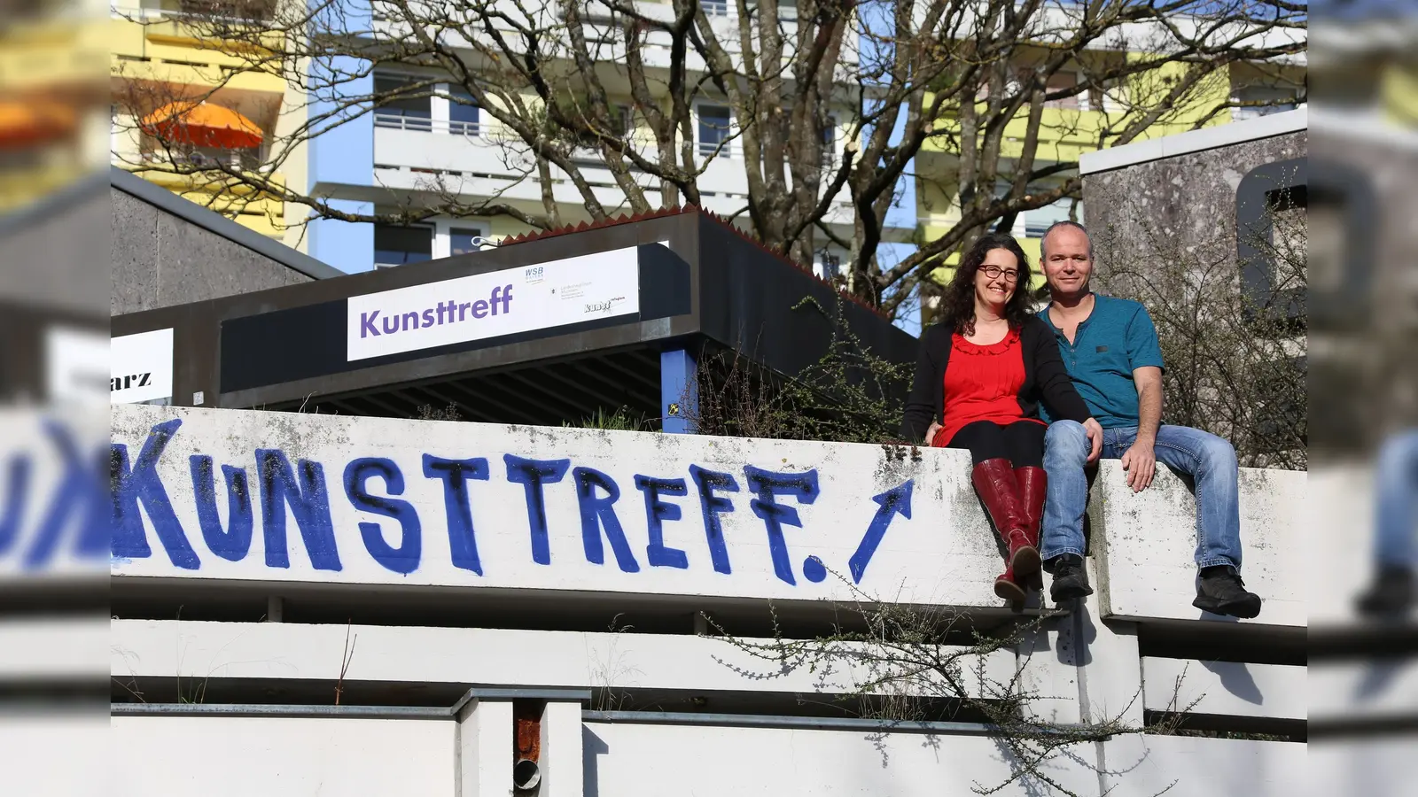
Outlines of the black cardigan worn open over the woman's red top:
[[[950,339],[953,329],[943,325],[927,328],[920,335],[920,355],[916,359],[916,381],[906,400],[902,435],[919,442],[930,427],[940,421],[944,408],[946,364],[950,362]],[[1039,417],[1039,398],[1049,406],[1055,420],[1083,423],[1092,413],[1073,389],[1073,380],[1064,367],[1058,340],[1049,325],[1037,316],[1029,316],[1020,330],[1020,345],[1024,349],[1024,386],[1020,387],[1020,408],[1024,417]],[[926,441],[929,442],[929,441]]]

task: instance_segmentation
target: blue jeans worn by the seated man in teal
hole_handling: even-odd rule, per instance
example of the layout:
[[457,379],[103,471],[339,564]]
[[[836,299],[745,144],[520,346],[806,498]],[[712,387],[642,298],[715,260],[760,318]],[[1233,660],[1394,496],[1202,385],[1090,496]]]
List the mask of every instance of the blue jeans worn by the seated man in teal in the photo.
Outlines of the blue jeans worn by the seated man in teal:
[[[1105,428],[1103,452],[1120,459],[1137,427]],[[1241,503],[1236,452],[1228,441],[1190,427],[1163,425],[1154,447],[1159,465],[1191,475],[1197,484],[1197,567],[1231,564],[1241,570]],[[1044,435],[1044,469],[1049,476],[1044,505],[1039,554],[1045,562],[1064,554],[1083,556],[1083,511],[1088,503],[1089,441],[1083,424],[1056,421]],[[1149,529],[1159,533],[1161,529]]]

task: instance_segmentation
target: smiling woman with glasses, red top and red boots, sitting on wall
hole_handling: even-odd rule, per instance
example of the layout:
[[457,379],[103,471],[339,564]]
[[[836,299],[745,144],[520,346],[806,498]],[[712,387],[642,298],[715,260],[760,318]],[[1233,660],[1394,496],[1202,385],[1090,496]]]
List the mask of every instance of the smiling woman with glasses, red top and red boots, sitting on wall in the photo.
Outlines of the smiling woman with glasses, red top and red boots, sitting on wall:
[[1018,608],[1042,589],[1044,431],[1054,418],[1089,420],[1048,325],[1029,313],[1029,267],[1010,235],[970,248],[940,298],[939,323],[920,336],[903,434],[966,448],[971,482],[1008,549],[994,593]]

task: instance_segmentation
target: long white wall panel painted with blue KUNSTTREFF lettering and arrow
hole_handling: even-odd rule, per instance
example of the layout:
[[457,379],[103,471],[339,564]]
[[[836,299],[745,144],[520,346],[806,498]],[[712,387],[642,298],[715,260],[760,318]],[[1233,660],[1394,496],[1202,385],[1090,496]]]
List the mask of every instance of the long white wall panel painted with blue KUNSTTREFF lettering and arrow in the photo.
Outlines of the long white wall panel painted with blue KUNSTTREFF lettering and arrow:
[[961,451],[115,407],[116,576],[998,606]]

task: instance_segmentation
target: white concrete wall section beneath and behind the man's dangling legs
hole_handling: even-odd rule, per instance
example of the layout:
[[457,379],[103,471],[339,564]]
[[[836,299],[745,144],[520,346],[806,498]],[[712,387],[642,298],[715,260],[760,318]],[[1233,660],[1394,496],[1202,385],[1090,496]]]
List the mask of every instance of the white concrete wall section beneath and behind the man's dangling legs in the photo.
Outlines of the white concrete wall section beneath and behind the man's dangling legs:
[[[1306,474],[1241,468],[1239,486],[1242,576],[1265,601],[1258,618],[1239,623],[1303,627]],[[1120,462],[1099,465],[1089,512],[1103,617],[1238,621],[1191,606],[1195,506],[1187,484],[1166,468],[1151,486],[1133,492]]]

